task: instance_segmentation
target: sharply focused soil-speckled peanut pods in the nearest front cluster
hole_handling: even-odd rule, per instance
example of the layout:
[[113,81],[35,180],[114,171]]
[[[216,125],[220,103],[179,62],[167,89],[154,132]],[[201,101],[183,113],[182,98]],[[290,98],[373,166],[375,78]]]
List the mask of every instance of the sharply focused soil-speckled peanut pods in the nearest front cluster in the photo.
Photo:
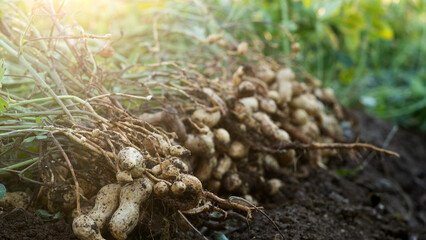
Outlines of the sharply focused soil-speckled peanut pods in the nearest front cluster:
[[202,184],[187,174],[186,163],[179,157],[169,156],[153,165],[149,157],[148,153],[133,147],[125,147],[118,153],[118,183],[102,187],[95,205],[82,208],[83,214],[73,213],[73,231],[79,239],[104,239],[102,232],[106,229],[115,239],[126,239],[141,221],[141,209],[151,194],[182,202],[179,205],[182,211],[198,205]]

